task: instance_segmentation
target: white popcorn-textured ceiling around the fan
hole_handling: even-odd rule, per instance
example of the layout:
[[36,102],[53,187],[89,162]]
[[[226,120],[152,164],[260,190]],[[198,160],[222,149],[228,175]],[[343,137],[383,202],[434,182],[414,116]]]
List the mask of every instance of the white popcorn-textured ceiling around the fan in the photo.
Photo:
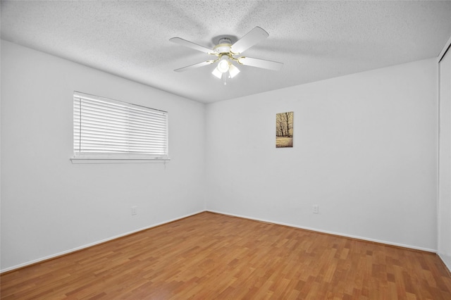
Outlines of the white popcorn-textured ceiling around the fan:
[[[283,62],[240,66],[223,85],[210,59],[169,42],[213,47],[253,27],[244,52]],[[451,1],[1,1],[1,38],[205,103],[436,57],[451,36]]]

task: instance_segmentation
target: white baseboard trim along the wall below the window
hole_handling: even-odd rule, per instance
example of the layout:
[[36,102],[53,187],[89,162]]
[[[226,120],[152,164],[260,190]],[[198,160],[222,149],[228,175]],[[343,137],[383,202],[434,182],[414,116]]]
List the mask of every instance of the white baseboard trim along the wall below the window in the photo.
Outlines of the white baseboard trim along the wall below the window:
[[203,212],[204,211],[197,211],[196,213],[190,213],[190,214],[187,214],[187,215],[182,215],[182,216],[180,216],[178,218],[173,218],[173,219],[166,220],[166,221],[163,221],[163,222],[160,222],[160,223],[156,223],[154,225],[150,225],[150,226],[147,226],[147,227],[142,227],[142,228],[137,229],[137,230],[132,230],[130,232],[125,232],[125,233],[123,233],[121,235],[116,235],[114,237],[101,239],[100,241],[97,241],[97,242],[92,242],[90,244],[85,244],[83,246],[78,246],[78,247],[70,249],[70,250],[58,252],[56,254],[51,254],[49,256],[44,256],[42,258],[37,258],[37,259],[34,259],[32,261],[27,261],[26,263],[20,263],[19,265],[13,265],[12,267],[4,268],[4,269],[0,270],[0,274],[4,273],[4,272],[11,271],[11,270],[15,270],[15,269],[18,269],[18,268],[23,268],[23,267],[26,267],[27,265],[32,265],[34,263],[39,263],[41,261],[47,261],[47,260],[49,260],[51,258],[57,258],[58,256],[63,256],[63,255],[66,255],[66,254],[70,254],[72,252],[79,251],[79,250],[82,250],[82,249],[86,249],[86,248],[89,248],[91,246],[95,246],[97,244],[102,244],[104,242],[109,242],[109,241],[112,241],[113,239],[118,239],[120,237],[125,237],[127,235],[132,235],[133,233],[140,232],[142,230],[148,230],[148,229],[150,229],[152,227],[156,227],[156,226],[164,225],[164,224],[167,224],[167,223],[171,223],[171,222],[174,222],[174,221],[177,221],[177,220],[181,220],[183,218],[187,218],[187,217],[190,217],[192,215],[197,215],[198,213],[203,213]]

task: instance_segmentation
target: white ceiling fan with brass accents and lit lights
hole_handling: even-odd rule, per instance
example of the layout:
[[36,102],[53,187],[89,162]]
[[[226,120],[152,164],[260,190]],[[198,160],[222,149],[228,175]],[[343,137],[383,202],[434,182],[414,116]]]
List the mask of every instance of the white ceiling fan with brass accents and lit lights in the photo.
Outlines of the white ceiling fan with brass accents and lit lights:
[[233,64],[233,62],[237,63],[238,65],[249,65],[252,67],[264,68],[268,70],[280,70],[283,66],[283,63],[279,63],[277,61],[266,61],[264,59],[247,56],[240,56],[242,52],[254,46],[254,44],[261,42],[263,39],[266,39],[266,37],[268,36],[268,32],[257,26],[254,27],[254,29],[252,29],[251,31],[247,32],[244,37],[238,39],[234,44],[232,44],[230,37],[221,37],[218,41],[218,44],[214,46],[213,49],[206,48],[199,44],[194,44],[193,42],[189,42],[186,39],[181,39],[180,37],[173,37],[172,39],[169,39],[171,42],[187,46],[198,51],[202,51],[212,56],[216,56],[214,59],[211,59],[209,61],[202,61],[202,63],[194,63],[194,65],[188,65],[183,68],[175,69],[175,72],[184,72],[187,70],[203,67],[204,65],[211,65],[217,62],[218,65],[213,70],[212,74],[219,79],[222,78],[224,85],[226,85],[227,78],[233,78],[238,73],[240,73],[240,70]]

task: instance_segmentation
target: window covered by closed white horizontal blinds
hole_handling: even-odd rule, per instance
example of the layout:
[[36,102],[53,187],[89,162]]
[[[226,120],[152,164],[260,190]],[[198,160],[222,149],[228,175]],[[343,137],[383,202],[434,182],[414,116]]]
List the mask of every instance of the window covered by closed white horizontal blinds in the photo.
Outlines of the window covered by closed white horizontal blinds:
[[74,92],[74,159],[168,159],[168,113]]

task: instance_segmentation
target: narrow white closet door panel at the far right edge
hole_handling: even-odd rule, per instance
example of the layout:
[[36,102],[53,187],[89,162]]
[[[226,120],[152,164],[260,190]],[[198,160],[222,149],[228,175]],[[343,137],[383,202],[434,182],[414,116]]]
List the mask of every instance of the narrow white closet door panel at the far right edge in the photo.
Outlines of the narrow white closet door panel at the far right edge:
[[438,254],[451,270],[451,53],[440,68]]

